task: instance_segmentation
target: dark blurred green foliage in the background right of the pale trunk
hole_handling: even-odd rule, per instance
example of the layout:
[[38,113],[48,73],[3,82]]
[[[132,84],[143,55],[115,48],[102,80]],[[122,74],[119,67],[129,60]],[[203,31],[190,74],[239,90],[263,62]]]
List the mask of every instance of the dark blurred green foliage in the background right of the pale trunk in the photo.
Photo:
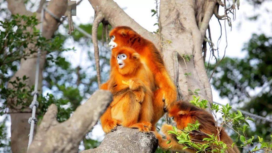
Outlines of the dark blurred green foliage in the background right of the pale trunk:
[[[246,57],[242,59],[225,57],[215,69],[211,84],[222,98],[230,99],[231,104],[242,103],[240,109],[269,117],[272,113],[272,37],[253,34],[243,52]],[[214,66],[208,68],[209,73]],[[250,95],[249,92],[255,89],[260,92]],[[270,140],[272,128],[269,122],[257,119],[253,124],[256,128],[247,129],[246,135],[259,135],[265,141]]]

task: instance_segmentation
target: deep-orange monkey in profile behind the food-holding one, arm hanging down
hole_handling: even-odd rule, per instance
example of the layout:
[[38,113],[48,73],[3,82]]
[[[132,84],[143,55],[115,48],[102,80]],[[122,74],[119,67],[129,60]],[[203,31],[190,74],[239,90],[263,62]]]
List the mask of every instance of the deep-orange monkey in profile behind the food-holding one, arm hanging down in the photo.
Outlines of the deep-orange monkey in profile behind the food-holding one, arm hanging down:
[[151,71],[152,76],[149,79],[154,80],[156,88],[153,89],[153,110],[154,117],[152,120],[152,131],[155,124],[164,114],[164,105],[170,106],[177,100],[177,89],[174,82],[165,68],[162,57],[155,45],[136,33],[130,27],[119,26],[110,32],[111,49],[117,46],[127,46],[135,49],[141,56],[141,61],[147,66],[146,70]]

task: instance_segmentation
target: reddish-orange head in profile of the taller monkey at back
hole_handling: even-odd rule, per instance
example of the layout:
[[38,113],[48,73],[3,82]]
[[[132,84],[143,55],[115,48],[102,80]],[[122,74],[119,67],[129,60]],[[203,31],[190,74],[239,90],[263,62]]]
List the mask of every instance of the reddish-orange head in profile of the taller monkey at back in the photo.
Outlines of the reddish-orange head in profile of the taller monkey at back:
[[110,49],[117,46],[132,47],[135,43],[141,42],[141,36],[128,26],[118,26],[110,32]]

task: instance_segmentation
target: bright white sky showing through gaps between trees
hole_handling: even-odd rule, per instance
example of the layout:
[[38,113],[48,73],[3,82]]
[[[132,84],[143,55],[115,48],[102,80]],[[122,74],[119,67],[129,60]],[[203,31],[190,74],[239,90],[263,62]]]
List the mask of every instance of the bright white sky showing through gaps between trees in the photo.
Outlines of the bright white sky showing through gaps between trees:
[[[153,26],[154,23],[157,23],[156,15],[151,17],[152,13],[150,10],[155,9],[155,1],[154,0],[138,0],[138,1],[128,1],[128,0],[114,0],[117,4],[124,9],[124,11],[132,17],[137,23],[139,23],[142,27],[146,28],[150,32],[156,31],[157,26]],[[236,10],[236,20],[232,21],[232,31],[230,28],[227,27],[227,41],[228,47],[226,49],[226,56],[228,57],[239,57],[242,58],[245,56],[245,53],[241,52],[243,48],[243,44],[247,42],[250,38],[252,33],[266,33],[266,35],[272,35],[272,13],[271,13],[271,6],[272,1],[266,1],[258,8],[254,8],[252,5],[249,5],[246,1],[240,1],[240,9]],[[270,12],[267,12],[269,10]],[[222,10],[221,10],[222,11]],[[221,12],[220,11],[220,12]],[[73,16],[73,21],[76,25],[80,23],[92,23],[94,17],[94,10],[88,0],[84,0],[81,2],[80,5],[77,6],[77,16]],[[261,14],[257,21],[249,21],[247,17],[251,17],[254,14]],[[222,40],[219,45],[219,56],[222,57],[224,54],[225,48],[225,35],[224,35],[224,21],[221,21],[222,25]],[[215,17],[212,17],[210,21],[212,39],[216,44],[217,39],[220,35],[220,27],[218,21]],[[60,31],[67,32],[67,29],[61,28]],[[72,61],[72,66],[76,67],[78,64],[86,65],[90,64],[91,62],[87,58],[86,48],[81,48],[72,42],[65,43],[66,47],[73,47],[75,46],[76,52],[65,52],[64,56],[67,60]],[[216,47],[216,46],[215,46]],[[88,49],[93,49],[93,46],[89,46]],[[80,54],[83,55],[82,59],[80,58]],[[208,59],[208,58],[207,58]],[[95,75],[95,74],[91,74]],[[44,91],[46,92],[46,91]],[[50,92],[50,91],[49,91]],[[258,92],[257,89],[254,93]],[[221,99],[218,95],[218,92],[212,88],[213,99],[214,101],[220,102],[222,104],[226,104],[228,99]],[[46,93],[45,93],[46,94]],[[7,123],[10,126],[10,123]],[[10,133],[8,134],[10,137]],[[104,133],[102,132],[101,126],[96,125],[91,133],[91,138],[102,140],[104,137]]]

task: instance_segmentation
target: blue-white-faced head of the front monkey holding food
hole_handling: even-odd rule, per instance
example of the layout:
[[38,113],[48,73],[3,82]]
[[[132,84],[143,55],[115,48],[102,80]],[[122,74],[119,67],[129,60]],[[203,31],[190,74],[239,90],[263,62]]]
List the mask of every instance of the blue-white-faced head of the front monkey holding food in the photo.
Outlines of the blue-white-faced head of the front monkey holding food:
[[112,49],[111,66],[116,67],[122,75],[134,73],[141,66],[140,54],[129,47],[115,47]]

